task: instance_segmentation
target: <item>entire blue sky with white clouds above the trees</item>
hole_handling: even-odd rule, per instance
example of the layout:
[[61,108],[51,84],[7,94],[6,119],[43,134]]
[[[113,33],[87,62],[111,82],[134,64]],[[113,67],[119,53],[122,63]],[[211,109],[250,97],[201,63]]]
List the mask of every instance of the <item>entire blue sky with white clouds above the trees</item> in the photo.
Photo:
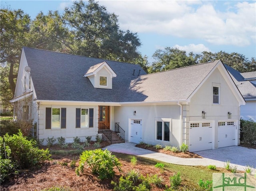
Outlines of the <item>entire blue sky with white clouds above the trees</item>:
[[[22,9],[32,19],[42,11],[72,6],[72,0],[1,0],[1,8]],[[187,53],[237,52],[256,57],[256,1],[99,0],[118,15],[122,30],[137,32],[139,51],[152,61],[156,49],[178,47]]]

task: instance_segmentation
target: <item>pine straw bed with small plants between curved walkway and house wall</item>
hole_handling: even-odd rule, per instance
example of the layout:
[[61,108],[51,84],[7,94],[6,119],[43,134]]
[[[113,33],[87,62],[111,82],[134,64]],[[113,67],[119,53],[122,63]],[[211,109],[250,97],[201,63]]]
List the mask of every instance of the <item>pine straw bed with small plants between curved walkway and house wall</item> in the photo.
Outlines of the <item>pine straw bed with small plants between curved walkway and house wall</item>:
[[154,152],[160,152],[163,154],[168,154],[168,155],[176,156],[176,157],[180,157],[180,158],[202,158],[200,155],[192,153],[192,152],[176,152],[176,153],[174,153],[172,151],[164,150],[163,148],[156,149],[156,148],[154,148],[153,145],[149,146],[147,144],[137,144],[136,147],[151,150]]

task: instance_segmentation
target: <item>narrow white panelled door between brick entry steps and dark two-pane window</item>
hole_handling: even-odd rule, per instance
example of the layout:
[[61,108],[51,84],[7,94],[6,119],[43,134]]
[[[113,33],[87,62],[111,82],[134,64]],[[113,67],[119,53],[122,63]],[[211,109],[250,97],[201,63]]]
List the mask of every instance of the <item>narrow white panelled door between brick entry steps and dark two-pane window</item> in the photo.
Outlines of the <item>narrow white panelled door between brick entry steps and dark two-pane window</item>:
[[132,119],[129,132],[129,142],[140,143],[142,141],[142,120]]

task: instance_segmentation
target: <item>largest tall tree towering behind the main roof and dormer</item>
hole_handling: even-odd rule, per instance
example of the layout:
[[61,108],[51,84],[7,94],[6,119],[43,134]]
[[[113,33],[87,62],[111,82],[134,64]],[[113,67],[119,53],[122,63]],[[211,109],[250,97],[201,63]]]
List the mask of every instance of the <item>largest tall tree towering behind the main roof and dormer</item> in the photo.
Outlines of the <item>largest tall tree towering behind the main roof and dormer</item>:
[[65,8],[63,19],[74,35],[74,54],[125,62],[140,56],[137,34],[120,30],[117,16],[94,0],[75,1]]

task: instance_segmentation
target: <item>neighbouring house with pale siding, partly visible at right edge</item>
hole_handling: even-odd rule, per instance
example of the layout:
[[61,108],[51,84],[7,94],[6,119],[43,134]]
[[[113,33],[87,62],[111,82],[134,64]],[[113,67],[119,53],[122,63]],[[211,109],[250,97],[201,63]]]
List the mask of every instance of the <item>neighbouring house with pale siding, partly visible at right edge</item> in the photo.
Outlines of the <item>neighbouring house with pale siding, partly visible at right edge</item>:
[[246,101],[240,109],[241,118],[256,122],[256,71],[240,73],[228,65],[225,67]]

